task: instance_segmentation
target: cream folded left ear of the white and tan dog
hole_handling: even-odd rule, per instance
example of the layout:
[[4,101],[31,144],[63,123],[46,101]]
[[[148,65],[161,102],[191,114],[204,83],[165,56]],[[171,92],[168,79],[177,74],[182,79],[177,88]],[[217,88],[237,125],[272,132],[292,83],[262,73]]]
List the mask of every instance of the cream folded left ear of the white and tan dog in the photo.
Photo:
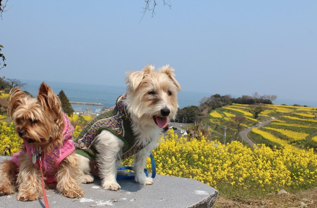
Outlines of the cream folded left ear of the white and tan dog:
[[153,70],[154,66],[147,65],[141,71],[128,72],[126,83],[129,84],[133,91],[135,91],[139,87],[146,74],[150,74]]

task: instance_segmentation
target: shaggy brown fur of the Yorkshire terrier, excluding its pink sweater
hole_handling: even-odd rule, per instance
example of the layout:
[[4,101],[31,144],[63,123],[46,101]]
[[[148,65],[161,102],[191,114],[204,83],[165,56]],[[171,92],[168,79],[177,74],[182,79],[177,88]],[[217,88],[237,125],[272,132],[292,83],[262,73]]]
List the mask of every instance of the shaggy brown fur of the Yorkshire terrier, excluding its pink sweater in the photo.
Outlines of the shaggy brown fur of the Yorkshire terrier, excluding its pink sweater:
[[[43,152],[47,153],[54,146],[63,144],[61,101],[44,82],[40,85],[37,99],[13,88],[10,91],[8,112],[16,123],[16,132],[30,145],[41,146]],[[19,156],[20,168],[11,160],[4,160],[0,166],[0,196],[13,194],[18,188],[18,200],[33,201],[43,194],[41,172],[30,160],[24,145],[22,150]],[[68,155],[59,164],[55,176],[57,190],[69,198],[83,196],[83,190],[78,185],[80,172],[76,160],[75,153]]]

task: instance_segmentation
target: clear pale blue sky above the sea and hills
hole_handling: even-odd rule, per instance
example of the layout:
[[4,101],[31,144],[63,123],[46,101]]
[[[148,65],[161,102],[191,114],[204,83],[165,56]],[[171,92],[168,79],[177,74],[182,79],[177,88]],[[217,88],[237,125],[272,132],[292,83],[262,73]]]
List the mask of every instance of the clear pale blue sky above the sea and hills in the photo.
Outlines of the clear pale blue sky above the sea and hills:
[[127,70],[169,63],[186,91],[317,106],[317,1],[157,3],[139,23],[142,0],[10,0],[1,76],[124,86]]

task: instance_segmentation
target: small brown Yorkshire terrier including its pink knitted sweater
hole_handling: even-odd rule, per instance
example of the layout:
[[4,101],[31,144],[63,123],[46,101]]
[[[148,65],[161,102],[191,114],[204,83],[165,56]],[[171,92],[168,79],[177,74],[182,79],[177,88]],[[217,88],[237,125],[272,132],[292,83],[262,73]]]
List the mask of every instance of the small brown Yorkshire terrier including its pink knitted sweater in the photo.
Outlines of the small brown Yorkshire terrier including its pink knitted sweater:
[[8,113],[16,123],[23,145],[12,159],[1,163],[0,196],[13,194],[18,188],[17,200],[41,198],[40,164],[46,185],[57,183],[58,192],[69,198],[83,196],[72,140],[74,127],[62,112],[61,101],[52,89],[43,82],[36,99],[13,88]]

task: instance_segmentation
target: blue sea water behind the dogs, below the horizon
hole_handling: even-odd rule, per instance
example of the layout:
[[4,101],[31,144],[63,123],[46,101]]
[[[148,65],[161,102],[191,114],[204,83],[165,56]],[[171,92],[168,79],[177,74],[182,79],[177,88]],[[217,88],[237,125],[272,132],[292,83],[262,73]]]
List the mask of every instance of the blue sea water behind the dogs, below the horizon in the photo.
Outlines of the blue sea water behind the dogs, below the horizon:
[[[36,97],[38,93],[38,88],[42,81],[21,81],[27,83],[27,85],[22,89],[28,91],[34,97]],[[69,101],[94,102],[103,104],[103,106],[72,104],[72,107],[75,109],[75,111],[79,111],[81,108],[82,112],[85,111],[85,108],[91,108],[92,112],[94,113],[96,109],[114,106],[118,96],[126,92],[126,86],[118,87],[96,84],[66,83],[57,81],[45,81],[45,83],[52,87],[53,91],[56,94],[63,90],[67,95]],[[190,105],[198,105],[199,101],[204,96],[210,95],[211,94],[208,93],[181,91],[178,93],[178,105],[180,108]]]

